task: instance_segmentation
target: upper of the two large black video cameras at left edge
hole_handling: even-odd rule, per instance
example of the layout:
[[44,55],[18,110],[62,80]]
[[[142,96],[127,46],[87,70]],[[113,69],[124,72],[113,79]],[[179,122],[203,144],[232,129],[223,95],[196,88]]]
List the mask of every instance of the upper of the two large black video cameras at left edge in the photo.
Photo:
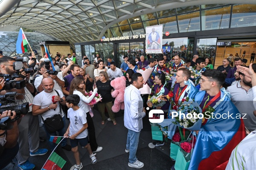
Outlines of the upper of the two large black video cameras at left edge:
[[10,75],[0,73],[0,77],[3,77],[6,81],[6,85],[3,87],[2,90],[11,90],[12,88],[22,89],[26,86],[25,80],[14,80],[15,78],[20,77],[19,74]]

